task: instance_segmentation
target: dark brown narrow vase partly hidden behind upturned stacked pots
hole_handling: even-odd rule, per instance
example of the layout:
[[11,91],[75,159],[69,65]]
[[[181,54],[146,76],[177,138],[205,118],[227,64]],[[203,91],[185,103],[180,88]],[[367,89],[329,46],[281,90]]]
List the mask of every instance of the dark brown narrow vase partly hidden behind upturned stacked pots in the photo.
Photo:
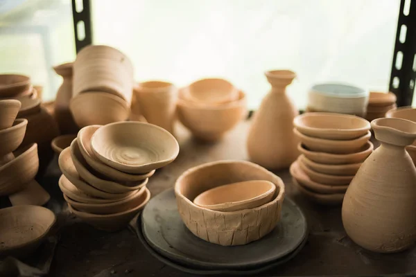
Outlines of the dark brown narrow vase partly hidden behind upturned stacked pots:
[[72,98],[72,64],[72,62],[68,62],[53,66],[53,70],[64,78],[56,93],[54,109],[55,119],[61,134],[76,134],[79,129],[73,120],[71,111],[69,111],[69,101]]

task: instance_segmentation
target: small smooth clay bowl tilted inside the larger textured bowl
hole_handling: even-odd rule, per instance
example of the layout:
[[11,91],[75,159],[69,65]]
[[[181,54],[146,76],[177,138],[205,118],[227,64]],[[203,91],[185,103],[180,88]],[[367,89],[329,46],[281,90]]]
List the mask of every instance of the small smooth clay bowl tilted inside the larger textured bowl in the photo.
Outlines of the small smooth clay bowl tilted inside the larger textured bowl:
[[270,202],[275,190],[270,181],[242,181],[211,188],[193,199],[193,204],[213,211],[241,211]]

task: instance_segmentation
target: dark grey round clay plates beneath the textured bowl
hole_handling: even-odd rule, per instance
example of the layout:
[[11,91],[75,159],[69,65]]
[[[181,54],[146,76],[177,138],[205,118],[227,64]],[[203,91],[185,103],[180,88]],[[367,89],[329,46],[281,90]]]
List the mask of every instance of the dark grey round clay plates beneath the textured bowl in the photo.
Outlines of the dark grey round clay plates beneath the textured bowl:
[[306,218],[291,199],[284,199],[281,221],[261,240],[223,247],[193,235],[177,212],[175,193],[169,189],[148,202],[141,215],[146,242],[162,256],[199,269],[250,269],[292,253],[307,235]]

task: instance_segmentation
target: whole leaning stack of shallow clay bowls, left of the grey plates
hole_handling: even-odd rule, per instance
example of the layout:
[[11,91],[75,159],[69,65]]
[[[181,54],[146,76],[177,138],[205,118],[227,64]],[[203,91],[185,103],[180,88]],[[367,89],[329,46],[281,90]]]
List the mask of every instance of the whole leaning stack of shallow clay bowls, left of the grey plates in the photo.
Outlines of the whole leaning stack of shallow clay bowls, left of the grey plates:
[[140,122],[91,125],[59,157],[69,210],[105,231],[125,227],[150,199],[148,178],[179,152],[161,127]]

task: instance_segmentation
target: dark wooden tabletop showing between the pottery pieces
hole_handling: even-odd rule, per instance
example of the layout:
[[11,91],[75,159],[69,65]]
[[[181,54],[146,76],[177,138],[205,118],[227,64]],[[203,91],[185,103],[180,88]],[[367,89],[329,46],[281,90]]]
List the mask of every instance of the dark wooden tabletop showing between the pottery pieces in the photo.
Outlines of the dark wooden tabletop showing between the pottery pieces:
[[[152,195],[173,187],[175,179],[192,166],[223,159],[248,159],[245,150],[247,122],[241,123],[216,144],[200,143],[192,139],[187,131],[181,128],[179,131],[179,157],[150,178],[148,188]],[[304,211],[310,234],[298,256],[284,266],[264,272],[262,276],[416,274],[415,249],[389,255],[361,249],[345,235],[340,207],[311,204],[297,193],[288,170],[275,173],[284,180],[287,197],[291,197]],[[62,205],[59,174],[55,159],[46,177],[41,180],[53,195],[49,206],[54,208]],[[150,256],[130,229],[105,233],[73,220],[69,215],[64,217],[65,220],[67,224],[59,232],[50,276],[191,276]]]

